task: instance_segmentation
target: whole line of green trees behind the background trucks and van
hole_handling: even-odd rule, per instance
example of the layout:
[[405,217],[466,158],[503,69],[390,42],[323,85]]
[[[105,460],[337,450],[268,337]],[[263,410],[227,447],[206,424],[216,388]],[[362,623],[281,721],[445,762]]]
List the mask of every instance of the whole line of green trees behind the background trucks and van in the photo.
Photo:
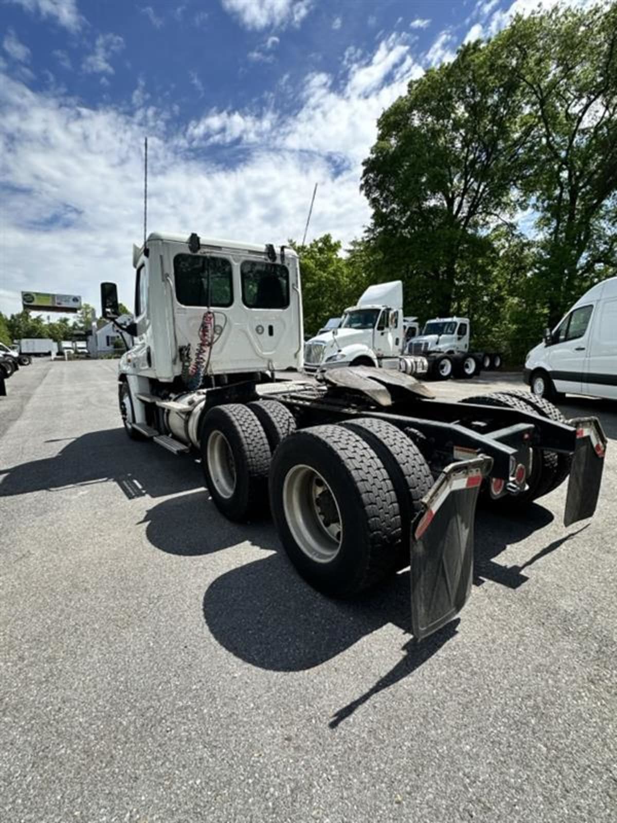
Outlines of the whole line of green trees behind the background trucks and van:
[[371,282],[406,314],[471,318],[513,363],[593,283],[617,274],[617,6],[517,16],[409,83],[378,120],[345,258],[299,250],[316,332]]

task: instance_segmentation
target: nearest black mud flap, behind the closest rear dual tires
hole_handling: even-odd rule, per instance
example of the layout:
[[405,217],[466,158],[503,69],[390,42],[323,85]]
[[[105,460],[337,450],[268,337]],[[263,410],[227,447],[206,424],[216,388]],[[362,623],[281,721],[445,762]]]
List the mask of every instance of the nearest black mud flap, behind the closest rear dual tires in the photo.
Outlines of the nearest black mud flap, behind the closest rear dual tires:
[[421,640],[451,621],[471,593],[474,521],[493,460],[452,463],[422,500],[411,527],[411,630]]

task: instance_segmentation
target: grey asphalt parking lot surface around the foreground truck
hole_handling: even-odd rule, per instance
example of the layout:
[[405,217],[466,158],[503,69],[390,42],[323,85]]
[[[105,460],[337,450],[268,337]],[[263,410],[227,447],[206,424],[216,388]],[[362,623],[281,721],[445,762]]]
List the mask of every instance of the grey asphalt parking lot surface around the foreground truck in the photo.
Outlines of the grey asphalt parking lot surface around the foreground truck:
[[562,405],[610,438],[596,517],[564,528],[564,486],[480,514],[471,600],[416,646],[407,574],[313,592],[126,437],[116,368],[0,398],[0,820],[615,820],[617,404]]

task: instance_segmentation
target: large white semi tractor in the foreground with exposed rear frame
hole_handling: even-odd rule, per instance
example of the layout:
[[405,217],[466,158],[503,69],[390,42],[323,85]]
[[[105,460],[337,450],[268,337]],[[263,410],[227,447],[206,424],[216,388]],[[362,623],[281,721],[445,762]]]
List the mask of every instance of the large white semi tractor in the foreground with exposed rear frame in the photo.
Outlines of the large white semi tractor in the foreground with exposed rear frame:
[[[351,597],[409,565],[422,639],[471,592],[480,493],[524,512],[569,476],[565,523],[594,513],[606,446],[595,418],[565,421],[517,392],[438,401],[411,375],[373,366],[278,379],[303,365],[292,249],[156,233],[133,264],[135,319],[119,324],[134,338],[118,373],[127,435],[200,454],[225,517],[269,507],[319,591]],[[101,301],[117,318],[113,283]]]

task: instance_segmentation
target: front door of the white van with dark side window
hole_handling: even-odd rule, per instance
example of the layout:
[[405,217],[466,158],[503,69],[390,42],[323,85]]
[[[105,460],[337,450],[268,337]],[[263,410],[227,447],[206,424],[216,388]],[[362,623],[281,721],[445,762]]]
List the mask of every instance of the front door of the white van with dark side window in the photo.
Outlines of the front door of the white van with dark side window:
[[573,309],[553,332],[547,352],[550,376],[558,392],[582,394],[593,305]]

